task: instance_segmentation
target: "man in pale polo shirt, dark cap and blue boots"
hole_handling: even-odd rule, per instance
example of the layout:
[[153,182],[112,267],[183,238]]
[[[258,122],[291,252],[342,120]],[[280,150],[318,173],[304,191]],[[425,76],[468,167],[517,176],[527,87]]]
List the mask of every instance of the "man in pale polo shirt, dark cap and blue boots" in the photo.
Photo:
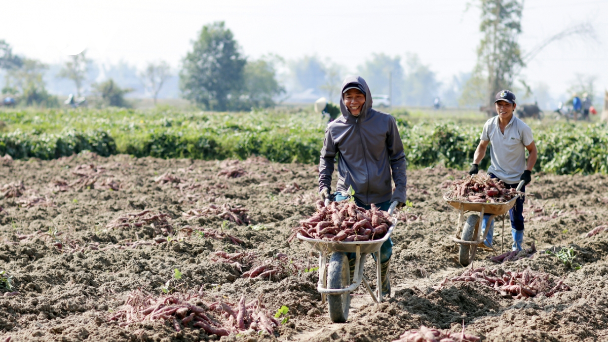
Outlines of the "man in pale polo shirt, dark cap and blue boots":
[[[479,163],[486,155],[488,144],[491,144],[489,176],[502,180],[509,188],[516,188],[519,181],[523,180],[525,184],[521,191],[525,192],[525,185],[532,180],[531,172],[536,164],[537,156],[532,130],[525,122],[513,115],[517,106],[513,92],[500,91],[496,94],[494,104],[498,116],[492,117],[483,125],[481,141],[475,150],[469,175],[479,172]],[[528,150],[527,161],[525,150]],[[513,250],[520,251],[523,246],[523,197],[516,200],[515,206],[509,211],[509,214]],[[483,215],[482,234],[485,233],[489,217],[489,214]],[[486,246],[492,246],[492,236],[494,236],[494,222],[489,227],[488,237],[484,242]]]

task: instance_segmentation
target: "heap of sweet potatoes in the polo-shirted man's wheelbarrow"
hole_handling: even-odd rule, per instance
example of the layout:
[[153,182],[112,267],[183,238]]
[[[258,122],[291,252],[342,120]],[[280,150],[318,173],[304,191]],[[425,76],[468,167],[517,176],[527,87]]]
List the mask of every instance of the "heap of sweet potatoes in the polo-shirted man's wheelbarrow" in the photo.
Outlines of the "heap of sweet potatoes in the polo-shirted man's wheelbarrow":
[[452,182],[445,196],[463,202],[504,203],[516,194],[517,191],[505,187],[503,181],[477,174]]

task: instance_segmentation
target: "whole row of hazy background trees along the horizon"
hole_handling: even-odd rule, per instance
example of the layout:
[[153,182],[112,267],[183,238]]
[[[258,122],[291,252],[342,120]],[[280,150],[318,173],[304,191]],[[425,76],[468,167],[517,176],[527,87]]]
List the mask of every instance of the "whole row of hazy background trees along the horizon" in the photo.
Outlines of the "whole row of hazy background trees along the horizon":
[[[382,53],[372,54],[355,72],[368,81],[374,94],[389,95],[392,105],[429,106],[435,97],[442,97],[442,102],[448,105],[483,105],[491,103],[500,89],[525,93],[520,98],[530,97],[532,90],[521,77],[527,61],[553,41],[573,35],[593,35],[590,26],[568,27],[524,52],[518,43],[523,1],[478,0],[471,4],[481,10],[482,33],[477,64],[472,72],[454,75],[451,83],[442,84],[418,55],[406,54],[402,60],[401,56]],[[57,77],[72,80],[80,96],[90,63],[86,52],[71,56]],[[47,92],[42,78],[48,66],[12,54],[10,45],[3,40],[0,40],[0,68],[6,71],[3,93],[16,94],[26,105],[57,103],[56,97]],[[281,73],[280,68],[288,71]],[[335,101],[339,99],[340,82],[347,75],[347,68],[316,55],[288,63],[275,55],[247,58],[232,31],[219,21],[202,27],[177,74],[182,97],[205,110],[227,111],[274,106],[275,102],[288,97],[291,102],[311,102],[320,96]],[[171,68],[164,61],[148,63],[138,73],[140,83],[154,103],[171,75]],[[584,75],[577,77],[586,82],[576,81],[570,89],[581,88],[579,83],[593,89],[593,80],[587,82]],[[123,96],[131,91],[131,88],[121,88],[113,79],[92,85],[92,93],[101,99],[102,105],[126,106]]]

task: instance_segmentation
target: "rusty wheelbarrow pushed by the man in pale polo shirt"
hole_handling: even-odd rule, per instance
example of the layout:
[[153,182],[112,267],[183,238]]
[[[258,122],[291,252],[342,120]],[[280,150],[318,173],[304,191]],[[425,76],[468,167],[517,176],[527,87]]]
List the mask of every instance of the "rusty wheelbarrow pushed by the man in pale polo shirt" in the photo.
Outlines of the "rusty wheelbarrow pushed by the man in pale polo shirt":
[[[523,181],[520,181],[517,185],[517,191],[522,188]],[[458,250],[458,262],[460,265],[468,266],[475,259],[475,254],[477,253],[477,246],[480,243],[483,243],[488,237],[489,229],[483,233],[483,236],[480,238],[480,228],[482,225],[483,215],[491,214],[487,225],[491,225],[492,221],[495,217],[501,216],[503,220],[502,225],[502,245],[500,252],[502,253],[502,248],[505,245],[505,215],[507,212],[513,208],[517,198],[522,196],[522,194],[516,194],[511,200],[505,203],[477,203],[477,202],[468,202],[468,201],[455,201],[447,197],[443,197],[444,200],[447,201],[448,204],[453,206],[454,208],[459,210],[458,219],[456,223],[456,234],[455,237],[452,237],[455,243],[460,244],[460,248]],[[480,215],[470,215],[465,224],[465,214],[471,211],[479,212]],[[481,218],[481,219],[480,219]],[[496,253],[496,250],[492,246],[492,251]],[[471,265],[472,267],[472,265]]]

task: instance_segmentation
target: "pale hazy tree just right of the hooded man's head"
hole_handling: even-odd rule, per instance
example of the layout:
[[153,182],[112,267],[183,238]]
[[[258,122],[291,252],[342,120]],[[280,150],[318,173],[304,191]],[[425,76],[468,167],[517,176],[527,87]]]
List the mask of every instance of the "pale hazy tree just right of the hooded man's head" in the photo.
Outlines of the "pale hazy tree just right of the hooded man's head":
[[[360,65],[357,69],[359,75],[361,75],[370,86],[372,95],[391,95],[393,105],[401,104],[402,86],[404,84],[401,57],[390,57],[386,54],[372,54],[371,58],[366,60],[365,63]],[[389,94],[389,91],[392,91],[392,94]]]

